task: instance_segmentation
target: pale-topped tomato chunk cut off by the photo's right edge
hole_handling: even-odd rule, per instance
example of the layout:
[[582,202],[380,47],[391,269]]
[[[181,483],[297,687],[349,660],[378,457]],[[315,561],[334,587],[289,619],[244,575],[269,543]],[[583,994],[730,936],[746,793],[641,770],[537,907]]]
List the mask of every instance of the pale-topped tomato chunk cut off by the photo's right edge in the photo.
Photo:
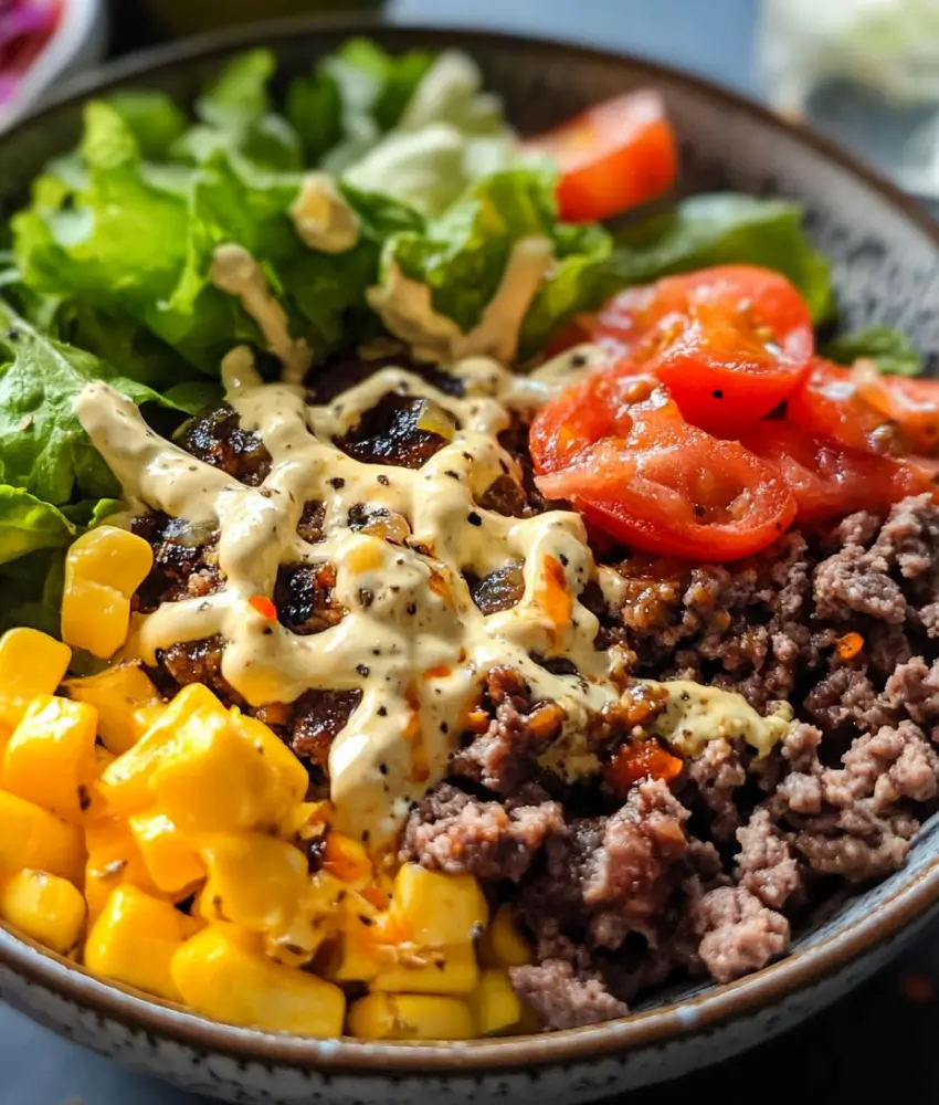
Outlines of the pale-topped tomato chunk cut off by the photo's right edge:
[[939,455],[939,380],[882,376],[869,361],[843,368],[816,357],[789,400],[789,418],[853,449]]

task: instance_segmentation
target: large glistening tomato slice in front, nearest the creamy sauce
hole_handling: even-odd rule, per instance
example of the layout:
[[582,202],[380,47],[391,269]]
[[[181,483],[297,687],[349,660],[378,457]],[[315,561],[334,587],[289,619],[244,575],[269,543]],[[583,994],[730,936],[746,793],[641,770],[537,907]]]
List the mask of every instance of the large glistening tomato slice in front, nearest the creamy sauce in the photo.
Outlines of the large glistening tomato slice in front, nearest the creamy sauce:
[[736,560],[766,548],[795,516],[776,469],[688,425],[665,388],[622,369],[549,403],[529,449],[542,495],[650,552]]

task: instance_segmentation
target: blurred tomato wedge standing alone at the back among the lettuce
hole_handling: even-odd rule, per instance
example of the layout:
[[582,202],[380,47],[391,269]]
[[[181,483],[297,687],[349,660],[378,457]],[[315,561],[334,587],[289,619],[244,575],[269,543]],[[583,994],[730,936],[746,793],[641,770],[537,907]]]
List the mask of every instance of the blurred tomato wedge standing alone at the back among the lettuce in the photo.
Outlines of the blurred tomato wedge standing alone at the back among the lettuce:
[[521,144],[561,172],[558,204],[568,222],[599,222],[654,199],[675,181],[678,148],[656,92],[630,92],[589,107]]

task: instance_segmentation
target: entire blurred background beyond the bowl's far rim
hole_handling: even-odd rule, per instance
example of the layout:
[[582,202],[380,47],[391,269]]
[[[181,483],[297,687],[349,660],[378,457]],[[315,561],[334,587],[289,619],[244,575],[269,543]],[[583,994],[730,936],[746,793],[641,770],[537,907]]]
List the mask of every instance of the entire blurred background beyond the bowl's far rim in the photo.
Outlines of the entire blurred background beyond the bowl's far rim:
[[908,191],[939,199],[939,0],[0,0],[0,126],[108,55],[351,10],[661,57],[806,118]]

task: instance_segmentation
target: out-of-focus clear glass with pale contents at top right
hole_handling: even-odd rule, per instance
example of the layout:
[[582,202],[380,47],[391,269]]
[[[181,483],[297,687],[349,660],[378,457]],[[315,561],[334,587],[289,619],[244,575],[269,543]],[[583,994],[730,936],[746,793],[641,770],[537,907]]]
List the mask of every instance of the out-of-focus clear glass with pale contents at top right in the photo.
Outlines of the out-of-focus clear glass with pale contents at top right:
[[763,0],[770,105],[939,199],[939,0]]

